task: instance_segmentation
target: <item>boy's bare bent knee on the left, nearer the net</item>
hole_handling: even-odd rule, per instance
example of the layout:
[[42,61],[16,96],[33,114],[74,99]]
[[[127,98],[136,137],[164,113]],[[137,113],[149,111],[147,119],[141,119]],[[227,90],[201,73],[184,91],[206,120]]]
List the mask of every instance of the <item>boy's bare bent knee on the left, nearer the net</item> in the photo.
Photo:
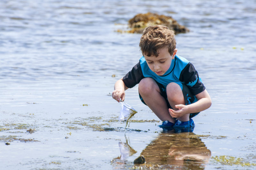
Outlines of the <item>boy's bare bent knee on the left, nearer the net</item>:
[[139,93],[148,94],[155,88],[156,82],[149,77],[142,79],[139,83]]

